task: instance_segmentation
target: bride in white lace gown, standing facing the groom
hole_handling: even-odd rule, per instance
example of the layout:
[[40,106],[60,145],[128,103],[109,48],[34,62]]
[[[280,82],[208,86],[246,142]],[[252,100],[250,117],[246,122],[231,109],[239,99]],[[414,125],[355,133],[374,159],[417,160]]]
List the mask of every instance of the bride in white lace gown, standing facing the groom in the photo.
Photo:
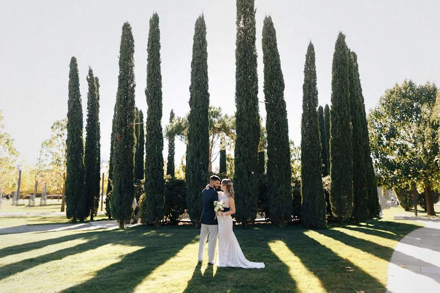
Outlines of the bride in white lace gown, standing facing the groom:
[[240,248],[240,244],[232,230],[232,217],[235,213],[234,188],[230,179],[221,181],[219,201],[223,202],[224,211],[216,213],[219,222],[219,253],[218,267],[235,267],[244,269],[262,269],[264,263],[248,261]]

